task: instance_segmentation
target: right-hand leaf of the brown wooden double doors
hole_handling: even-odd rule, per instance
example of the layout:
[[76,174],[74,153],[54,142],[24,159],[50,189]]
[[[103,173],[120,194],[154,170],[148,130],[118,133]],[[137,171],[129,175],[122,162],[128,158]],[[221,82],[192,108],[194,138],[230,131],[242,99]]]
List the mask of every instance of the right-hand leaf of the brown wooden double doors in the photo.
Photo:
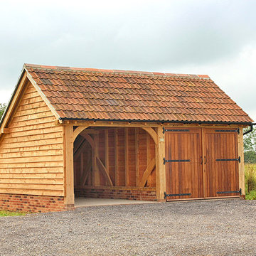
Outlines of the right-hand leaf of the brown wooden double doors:
[[203,129],[206,197],[239,196],[238,129]]

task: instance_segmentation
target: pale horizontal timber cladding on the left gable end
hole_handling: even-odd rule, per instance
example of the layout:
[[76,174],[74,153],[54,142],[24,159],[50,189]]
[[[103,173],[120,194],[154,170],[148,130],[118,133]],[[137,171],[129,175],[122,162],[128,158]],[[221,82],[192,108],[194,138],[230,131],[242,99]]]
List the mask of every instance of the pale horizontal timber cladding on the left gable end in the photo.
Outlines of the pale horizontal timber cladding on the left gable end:
[[64,196],[63,127],[26,82],[0,141],[0,193]]

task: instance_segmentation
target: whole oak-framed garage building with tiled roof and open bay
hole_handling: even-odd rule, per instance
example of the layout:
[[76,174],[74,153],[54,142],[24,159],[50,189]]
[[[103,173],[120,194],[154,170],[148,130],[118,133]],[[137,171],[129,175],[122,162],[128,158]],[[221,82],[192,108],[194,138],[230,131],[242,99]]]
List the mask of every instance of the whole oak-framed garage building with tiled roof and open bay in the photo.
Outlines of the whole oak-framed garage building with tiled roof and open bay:
[[207,75],[24,65],[0,124],[0,208],[244,197],[248,126]]

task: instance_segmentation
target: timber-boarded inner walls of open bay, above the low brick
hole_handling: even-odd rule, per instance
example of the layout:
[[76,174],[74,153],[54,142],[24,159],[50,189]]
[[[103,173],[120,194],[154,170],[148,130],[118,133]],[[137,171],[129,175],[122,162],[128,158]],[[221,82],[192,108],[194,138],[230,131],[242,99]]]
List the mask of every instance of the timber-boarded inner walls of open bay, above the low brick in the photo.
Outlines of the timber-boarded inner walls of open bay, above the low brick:
[[[155,143],[144,129],[127,127],[88,128],[75,139],[74,150],[85,139],[77,156],[74,151],[75,188],[84,186],[156,187]],[[93,152],[93,149],[96,151]],[[96,164],[93,158],[97,155]],[[88,166],[89,165],[89,166]],[[97,168],[98,167],[98,168]],[[88,173],[85,174],[84,172]],[[94,176],[99,176],[96,180]],[[84,179],[86,177],[86,181]],[[82,180],[82,181],[81,181]]]

